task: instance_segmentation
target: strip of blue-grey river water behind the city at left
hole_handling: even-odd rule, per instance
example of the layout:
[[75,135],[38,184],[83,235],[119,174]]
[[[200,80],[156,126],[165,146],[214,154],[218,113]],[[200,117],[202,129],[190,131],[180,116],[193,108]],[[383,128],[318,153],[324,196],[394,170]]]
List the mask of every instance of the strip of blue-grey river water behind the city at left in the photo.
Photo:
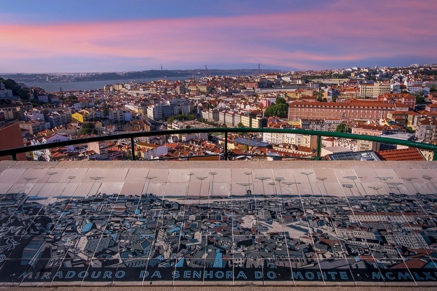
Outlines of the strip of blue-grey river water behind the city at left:
[[[185,81],[190,77],[191,76],[145,78],[145,79],[135,79],[134,81],[138,83],[156,81],[162,79],[166,79],[170,81],[177,81],[177,80]],[[130,81],[133,80],[120,79],[120,80],[103,80],[103,81],[77,81],[77,82],[25,82],[25,84],[32,87],[41,87],[46,92],[58,92],[59,88],[62,88],[63,91],[103,89],[103,86],[107,84],[128,83]]]

